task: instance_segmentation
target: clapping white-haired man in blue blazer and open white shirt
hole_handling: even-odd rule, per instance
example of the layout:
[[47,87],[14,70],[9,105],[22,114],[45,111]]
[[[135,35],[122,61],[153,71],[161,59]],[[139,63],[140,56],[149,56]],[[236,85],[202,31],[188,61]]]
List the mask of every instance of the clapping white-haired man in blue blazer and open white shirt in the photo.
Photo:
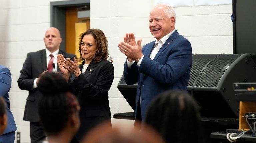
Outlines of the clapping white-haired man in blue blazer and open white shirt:
[[187,91],[192,67],[190,42],[175,30],[175,12],[170,5],[157,5],[149,15],[149,30],[156,38],[141,48],[133,33],[126,34],[118,47],[127,56],[126,84],[138,82],[135,121],[145,120],[145,112],[159,93],[170,89]]

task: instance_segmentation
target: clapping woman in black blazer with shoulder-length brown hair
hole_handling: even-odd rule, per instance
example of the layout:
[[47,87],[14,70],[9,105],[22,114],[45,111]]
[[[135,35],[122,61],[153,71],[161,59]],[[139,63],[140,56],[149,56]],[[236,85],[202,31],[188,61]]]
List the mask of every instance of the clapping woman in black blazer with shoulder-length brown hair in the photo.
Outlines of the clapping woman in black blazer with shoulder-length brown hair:
[[[111,120],[108,91],[114,79],[114,66],[107,38],[99,29],[88,29],[80,35],[79,52],[80,58],[74,58],[74,62],[61,54],[57,55],[57,62],[81,107],[81,126],[75,136],[81,141],[92,127]],[[83,62],[78,65],[77,61]],[[70,73],[73,74],[71,78]]]

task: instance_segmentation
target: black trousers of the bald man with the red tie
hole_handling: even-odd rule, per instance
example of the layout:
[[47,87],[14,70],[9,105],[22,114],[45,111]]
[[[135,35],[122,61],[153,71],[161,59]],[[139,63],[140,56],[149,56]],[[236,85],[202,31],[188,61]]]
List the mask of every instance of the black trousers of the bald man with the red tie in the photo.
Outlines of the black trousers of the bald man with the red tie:
[[39,122],[30,122],[31,143],[41,143],[46,135],[43,126]]

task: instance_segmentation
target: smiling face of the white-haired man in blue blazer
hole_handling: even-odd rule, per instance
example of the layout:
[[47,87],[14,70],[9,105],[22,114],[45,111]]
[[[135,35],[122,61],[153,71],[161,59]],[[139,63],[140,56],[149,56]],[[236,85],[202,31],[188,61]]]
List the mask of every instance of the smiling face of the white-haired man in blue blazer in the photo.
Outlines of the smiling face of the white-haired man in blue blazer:
[[157,40],[160,40],[175,29],[175,18],[167,17],[164,8],[162,5],[157,6],[149,15],[149,30]]

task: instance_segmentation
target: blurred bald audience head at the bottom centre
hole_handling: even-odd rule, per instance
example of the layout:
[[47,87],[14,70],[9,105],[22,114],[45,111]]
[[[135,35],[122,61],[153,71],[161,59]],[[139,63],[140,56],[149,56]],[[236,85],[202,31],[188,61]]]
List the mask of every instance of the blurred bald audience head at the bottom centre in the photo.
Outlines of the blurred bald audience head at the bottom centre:
[[140,131],[133,126],[116,125],[111,129],[110,124],[104,122],[93,128],[82,143],[165,143],[151,127],[146,126],[144,131]]

